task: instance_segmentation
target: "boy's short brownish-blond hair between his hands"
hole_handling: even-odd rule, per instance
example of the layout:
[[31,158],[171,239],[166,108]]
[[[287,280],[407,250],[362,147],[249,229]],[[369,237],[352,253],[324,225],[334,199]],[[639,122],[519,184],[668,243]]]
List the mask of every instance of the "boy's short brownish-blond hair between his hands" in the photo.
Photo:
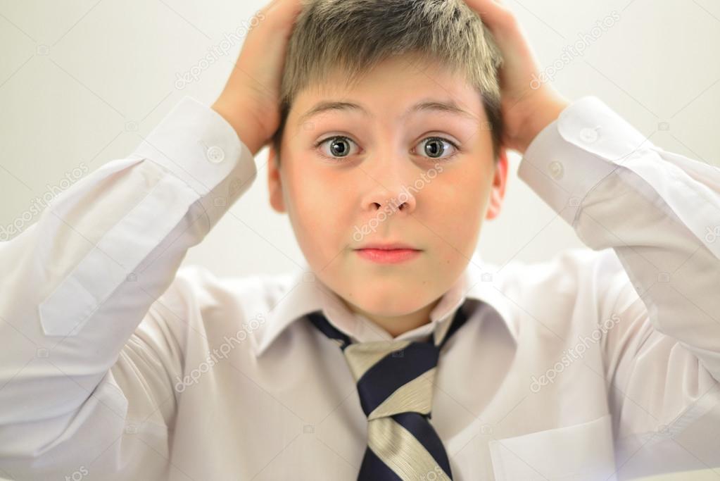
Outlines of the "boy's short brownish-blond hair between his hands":
[[280,91],[281,121],[272,143],[280,161],[282,135],[297,94],[341,73],[351,85],[393,55],[419,55],[460,73],[482,96],[498,161],[502,119],[500,49],[464,0],[302,0],[289,38]]

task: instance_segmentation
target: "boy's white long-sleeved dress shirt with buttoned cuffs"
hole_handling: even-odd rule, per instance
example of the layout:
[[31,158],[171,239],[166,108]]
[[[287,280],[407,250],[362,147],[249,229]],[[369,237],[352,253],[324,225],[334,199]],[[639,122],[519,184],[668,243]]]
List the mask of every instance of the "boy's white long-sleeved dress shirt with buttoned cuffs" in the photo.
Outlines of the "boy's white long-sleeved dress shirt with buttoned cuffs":
[[[355,479],[354,379],[304,315],[323,310],[354,341],[392,336],[307,265],[179,269],[256,176],[228,122],[185,97],[135,153],[0,243],[0,476]],[[588,248],[502,268],[475,254],[431,322],[397,337],[467,309],[431,421],[454,479],[720,467],[720,172],[588,96],[518,176]]]

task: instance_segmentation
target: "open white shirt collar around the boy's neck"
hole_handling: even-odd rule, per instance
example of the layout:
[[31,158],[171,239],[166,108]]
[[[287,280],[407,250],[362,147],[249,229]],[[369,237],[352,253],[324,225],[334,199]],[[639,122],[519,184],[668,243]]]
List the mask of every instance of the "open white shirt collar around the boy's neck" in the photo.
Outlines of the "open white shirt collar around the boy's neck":
[[[430,323],[402,334],[398,336],[398,339],[412,338],[416,331],[432,332],[437,323],[449,320],[455,310],[465,300],[470,299],[485,302],[494,307],[500,315],[500,320],[508,328],[513,341],[517,341],[517,326],[511,322],[508,300],[496,287],[500,282],[497,271],[497,266],[484,263],[480,254],[474,253],[466,269],[431,311]],[[343,300],[323,282],[320,282],[307,264],[302,266],[300,271],[287,274],[283,281],[287,282],[285,295],[271,309],[266,325],[256,333],[256,356],[261,356],[295,320],[317,310],[323,311],[323,315],[328,318],[328,321],[351,336],[353,341],[356,341],[354,333],[358,334],[362,330],[375,331],[365,333],[366,337],[379,339],[382,336],[390,336],[364,316],[348,310]]]

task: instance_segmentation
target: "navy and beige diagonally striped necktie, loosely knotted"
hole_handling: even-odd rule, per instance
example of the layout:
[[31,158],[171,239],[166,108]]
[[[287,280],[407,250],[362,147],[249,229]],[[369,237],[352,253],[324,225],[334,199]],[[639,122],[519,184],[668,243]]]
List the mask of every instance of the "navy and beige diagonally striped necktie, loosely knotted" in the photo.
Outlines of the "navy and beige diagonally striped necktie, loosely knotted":
[[307,318],[338,343],[368,419],[359,481],[451,480],[450,462],[429,422],[440,350],[467,320],[462,306],[427,341],[351,343],[322,311]]

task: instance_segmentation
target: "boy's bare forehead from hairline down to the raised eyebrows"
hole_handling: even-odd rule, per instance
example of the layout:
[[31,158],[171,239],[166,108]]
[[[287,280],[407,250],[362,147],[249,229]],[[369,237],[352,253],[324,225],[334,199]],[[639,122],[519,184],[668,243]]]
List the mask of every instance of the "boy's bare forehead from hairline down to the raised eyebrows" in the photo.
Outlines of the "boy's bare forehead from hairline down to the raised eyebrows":
[[383,60],[351,83],[336,71],[307,86],[297,94],[288,120],[302,124],[313,114],[338,111],[397,120],[423,112],[485,119],[480,93],[461,73],[410,55]]

